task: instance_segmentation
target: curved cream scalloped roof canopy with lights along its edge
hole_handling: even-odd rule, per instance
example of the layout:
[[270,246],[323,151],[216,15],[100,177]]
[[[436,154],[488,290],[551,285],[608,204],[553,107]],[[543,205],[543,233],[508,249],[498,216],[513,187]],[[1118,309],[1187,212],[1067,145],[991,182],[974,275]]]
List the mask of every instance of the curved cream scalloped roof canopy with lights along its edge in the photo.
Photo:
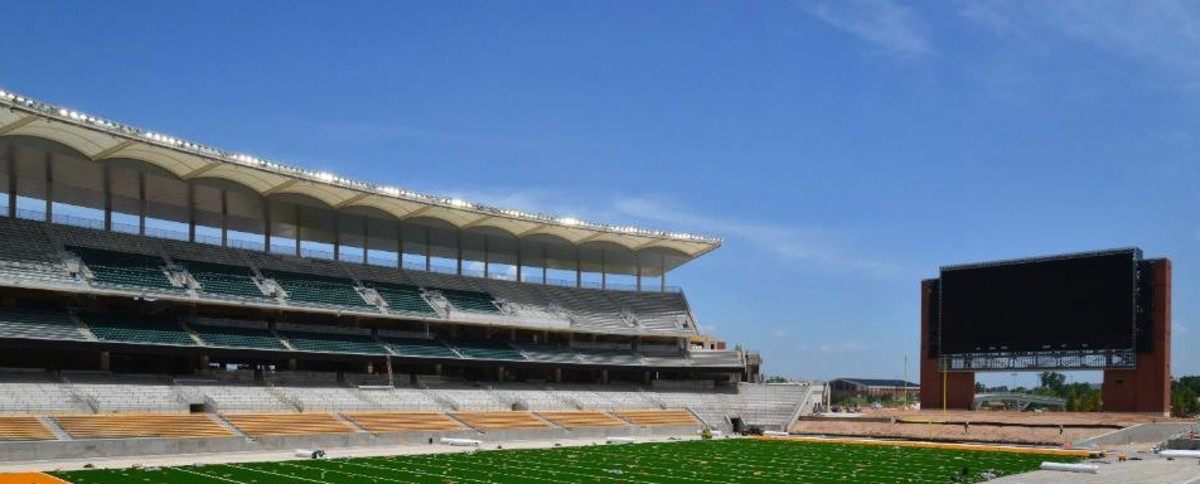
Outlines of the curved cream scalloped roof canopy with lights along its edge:
[[492,227],[518,239],[553,235],[576,246],[610,243],[641,251],[665,249],[695,258],[721,239],[679,232],[586,222],[350,180],[104,120],[0,90],[0,136],[43,138],[92,161],[137,160],[181,180],[221,179],[262,196],[300,195],[331,209],[371,208],[397,220],[436,219],[460,229]]

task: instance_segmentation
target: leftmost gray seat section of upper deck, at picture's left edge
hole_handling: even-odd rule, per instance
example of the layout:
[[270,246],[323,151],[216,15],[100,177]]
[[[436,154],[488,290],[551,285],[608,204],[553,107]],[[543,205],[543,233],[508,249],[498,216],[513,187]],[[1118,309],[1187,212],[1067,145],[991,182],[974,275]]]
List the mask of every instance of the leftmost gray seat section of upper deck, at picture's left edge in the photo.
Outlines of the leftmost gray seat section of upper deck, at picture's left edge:
[[20,280],[73,282],[55,257],[54,245],[43,225],[29,220],[0,217],[0,275]]

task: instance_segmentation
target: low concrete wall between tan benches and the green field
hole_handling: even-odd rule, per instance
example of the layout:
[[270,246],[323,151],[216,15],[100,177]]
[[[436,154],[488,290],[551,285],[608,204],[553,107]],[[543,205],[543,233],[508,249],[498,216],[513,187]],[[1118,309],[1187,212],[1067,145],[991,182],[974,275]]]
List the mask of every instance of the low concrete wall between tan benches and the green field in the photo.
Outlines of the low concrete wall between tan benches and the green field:
[[648,437],[691,435],[698,426],[623,426],[601,429],[529,429],[478,432],[473,430],[451,432],[398,432],[372,435],[367,432],[312,436],[280,436],[220,438],[104,438],[47,442],[0,442],[0,461],[46,461],[64,459],[92,459],[134,455],[178,455],[234,453],[253,450],[287,449],[337,449],[347,447],[373,447],[398,444],[428,444],[442,437],[475,438],[484,442],[512,442],[534,440]]

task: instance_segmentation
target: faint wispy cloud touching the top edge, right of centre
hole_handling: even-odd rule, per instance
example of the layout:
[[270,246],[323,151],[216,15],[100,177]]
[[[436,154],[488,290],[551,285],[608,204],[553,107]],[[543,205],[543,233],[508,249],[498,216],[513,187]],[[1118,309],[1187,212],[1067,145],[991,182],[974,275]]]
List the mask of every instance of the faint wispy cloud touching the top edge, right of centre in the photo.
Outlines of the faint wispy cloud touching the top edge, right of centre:
[[920,14],[893,0],[816,0],[800,6],[822,22],[878,49],[919,56],[932,50],[931,32]]

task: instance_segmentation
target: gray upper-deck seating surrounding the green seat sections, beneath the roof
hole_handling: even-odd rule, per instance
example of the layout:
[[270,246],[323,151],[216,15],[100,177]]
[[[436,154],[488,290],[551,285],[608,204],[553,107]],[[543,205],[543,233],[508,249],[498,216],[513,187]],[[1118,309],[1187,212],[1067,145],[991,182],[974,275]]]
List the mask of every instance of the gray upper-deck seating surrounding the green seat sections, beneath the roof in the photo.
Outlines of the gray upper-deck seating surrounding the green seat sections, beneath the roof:
[[[497,315],[484,315],[488,321],[514,325],[540,325],[562,322],[565,327],[601,333],[625,334],[694,334],[696,325],[684,297],[679,293],[635,293],[569,288],[548,285],[532,285],[504,280],[426,273],[400,268],[364,265],[350,262],[300,258],[276,253],[245,251],[205,244],[157,239],[104,232],[84,227],[52,225],[22,219],[0,217],[0,281],[86,283],[72,276],[68,267],[80,261],[72,257],[68,246],[92,247],[114,252],[132,252],[158,257],[164,267],[172,268],[179,281],[186,281],[186,270],[175,261],[198,261],[246,268],[260,280],[264,271],[288,271],[325,277],[338,277],[364,282],[409,285],[437,292],[439,288],[487,293],[498,306]],[[166,274],[164,274],[166,277]],[[269,286],[269,285],[268,285]],[[113,287],[106,287],[113,289]],[[186,287],[179,287],[186,289]],[[154,288],[137,288],[152,291]],[[338,310],[379,312],[370,291],[362,306],[340,306]],[[188,291],[187,297],[227,300],[228,295],[214,295]],[[432,293],[431,293],[432,294]],[[436,299],[436,297],[433,298]],[[433,300],[431,299],[431,300]],[[434,303],[440,299],[434,300]],[[287,304],[311,306],[311,303],[289,301],[264,294],[254,304]],[[434,318],[470,318],[480,315],[470,311],[448,313],[454,307],[434,304],[439,312]]]

